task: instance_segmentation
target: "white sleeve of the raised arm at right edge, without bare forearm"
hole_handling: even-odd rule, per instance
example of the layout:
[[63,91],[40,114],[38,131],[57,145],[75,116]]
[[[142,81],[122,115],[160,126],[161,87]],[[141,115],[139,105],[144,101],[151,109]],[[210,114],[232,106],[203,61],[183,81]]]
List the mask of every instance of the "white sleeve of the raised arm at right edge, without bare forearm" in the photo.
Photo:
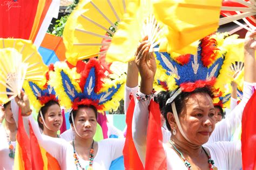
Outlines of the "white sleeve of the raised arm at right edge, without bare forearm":
[[217,142],[217,141],[230,141],[232,134],[241,124],[242,112],[244,111],[245,105],[251,98],[253,93],[253,84],[244,82],[244,97],[237,107],[231,111],[230,114],[219,123],[215,125],[215,129],[211,134],[207,143]]

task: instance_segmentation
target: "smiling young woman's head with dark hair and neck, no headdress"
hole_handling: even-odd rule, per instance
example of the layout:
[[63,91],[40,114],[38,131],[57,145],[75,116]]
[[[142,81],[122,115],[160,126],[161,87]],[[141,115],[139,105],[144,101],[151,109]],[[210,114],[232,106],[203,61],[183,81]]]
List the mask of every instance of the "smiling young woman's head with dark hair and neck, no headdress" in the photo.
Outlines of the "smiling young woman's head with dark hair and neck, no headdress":
[[50,100],[41,107],[37,115],[37,123],[44,135],[52,138],[59,138],[57,132],[62,126],[63,117],[59,103],[55,100]]

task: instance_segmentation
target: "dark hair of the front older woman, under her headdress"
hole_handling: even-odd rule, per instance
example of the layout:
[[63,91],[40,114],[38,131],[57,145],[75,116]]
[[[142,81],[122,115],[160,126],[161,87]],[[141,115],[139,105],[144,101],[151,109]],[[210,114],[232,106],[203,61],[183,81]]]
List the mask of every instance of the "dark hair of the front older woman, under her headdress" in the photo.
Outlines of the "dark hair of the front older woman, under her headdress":
[[[167,119],[167,113],[168,112],[172,112],[172,106],[171,103],[166,105],[166,101],[177,91],[178,89],[169,92],[163,92],[159,95],[157,95],[157,101],[159,103],[159,107],[160,107],[160,111],[162,114],[164,114],[164,118],[166,121],[166,126],[168,128],[168,130],[171,130],[171,127],[169,125],[169,121]],[[205,93],[208,94],[211,98],[213,98],[213,92],[212,92],[212,88],[210,86],[205,86],[205,87],[201,87],[201,88],[197,88],[196,90],[192,91],[192,92],[181,92],[173,101],[175,102],[175,106],[176,106],[176,110],[177,110],[177,114],[179,115],[181,113],[181,111],[183,110],[183,107],[185,106],[185,99],[187,97],[190,97],[192,94],[195,93]]]

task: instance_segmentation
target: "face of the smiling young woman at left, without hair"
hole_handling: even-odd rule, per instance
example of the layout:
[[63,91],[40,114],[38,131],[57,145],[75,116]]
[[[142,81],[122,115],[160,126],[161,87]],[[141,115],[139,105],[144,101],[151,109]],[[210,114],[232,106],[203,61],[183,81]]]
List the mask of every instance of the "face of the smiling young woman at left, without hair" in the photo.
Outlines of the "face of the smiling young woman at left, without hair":
[[[62,110],[59,105],[51,105],[47,112],[44,115],[44,121],[48,128],[51,131],[57,132],[60,127],[62,126],[63,117],[62,117]],[[44,130],[47,129],[44,125]]]

